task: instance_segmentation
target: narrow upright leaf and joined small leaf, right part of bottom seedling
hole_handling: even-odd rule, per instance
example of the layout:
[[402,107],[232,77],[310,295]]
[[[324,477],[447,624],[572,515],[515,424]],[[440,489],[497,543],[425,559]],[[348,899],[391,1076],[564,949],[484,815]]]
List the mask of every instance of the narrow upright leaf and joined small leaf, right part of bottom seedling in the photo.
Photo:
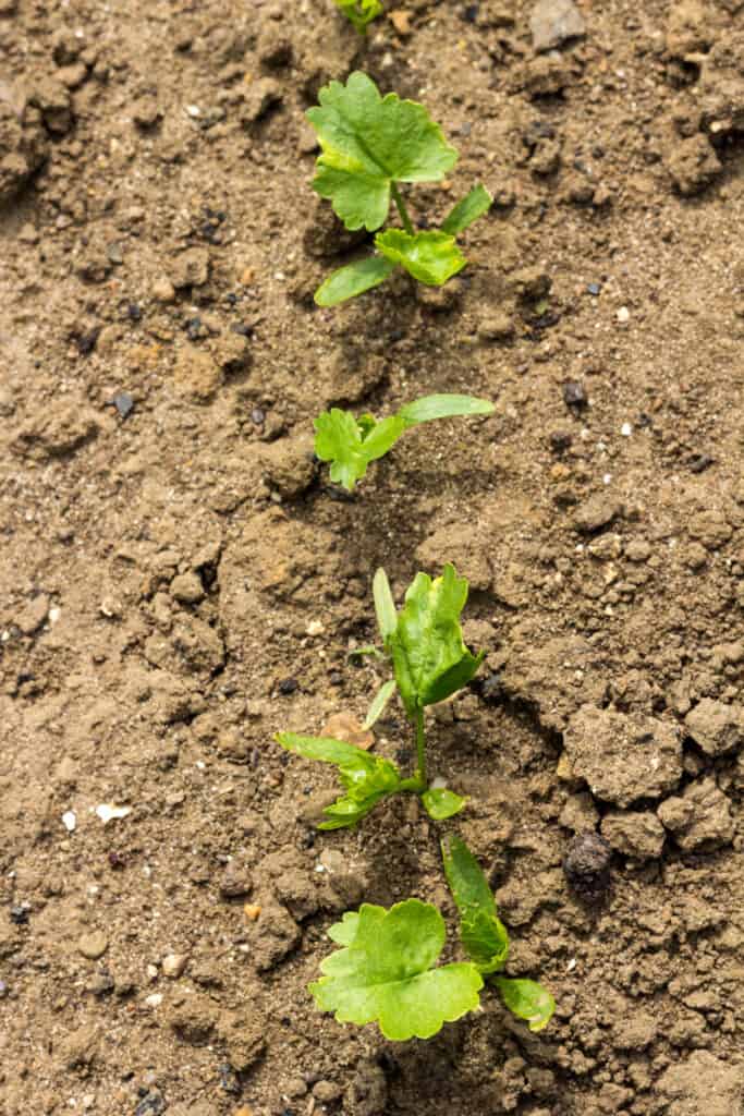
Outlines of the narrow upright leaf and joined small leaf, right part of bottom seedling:
[[480,864],[460,837],[442,841],[442,857],[460,912],[460,940],[465,953],[496,987],[509,1010],[524,1019],[531,1031],[541,1031],[552,1018],[555,1001],[537,981],[501,975],[509,956],[509,934]]

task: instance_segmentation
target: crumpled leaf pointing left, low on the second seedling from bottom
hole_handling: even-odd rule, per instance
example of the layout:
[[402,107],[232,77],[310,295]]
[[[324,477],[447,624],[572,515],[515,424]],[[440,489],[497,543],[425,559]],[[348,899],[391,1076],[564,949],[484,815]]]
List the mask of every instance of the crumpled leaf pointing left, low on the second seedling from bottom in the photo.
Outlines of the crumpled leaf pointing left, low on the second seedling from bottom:
[[290,752],[306,759],[334,763],[346,793],[323,814],[328,818],[319,829],[341,829],[354,826],[388,795],[394,795],[400,786],[400,776],[395,763],[379,756],[369,756],[361,748],[330,737],[302,737],[294,732],[279,732],[278,743]]

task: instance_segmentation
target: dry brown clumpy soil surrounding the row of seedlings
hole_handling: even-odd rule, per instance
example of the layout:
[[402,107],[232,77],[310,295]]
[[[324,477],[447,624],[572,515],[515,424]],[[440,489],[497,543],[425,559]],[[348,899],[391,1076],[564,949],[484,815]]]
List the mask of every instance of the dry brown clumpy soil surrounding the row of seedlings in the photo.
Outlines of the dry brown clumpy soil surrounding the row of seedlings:
[[[444,290],[321,311],[355,67],[461,151],[417,218],[495,204]],[[741,1116],[743,133],[741,0],[0,0],[2,1116]],[[445,391],[495,414],[341,499],[318,411]],[[376,566],[446,560],[487,658],[432,767],[558,1010],[395,1045],[306,985],[363,898],[456,954],[438,827],[317,834],[271,738],[364,715]]]

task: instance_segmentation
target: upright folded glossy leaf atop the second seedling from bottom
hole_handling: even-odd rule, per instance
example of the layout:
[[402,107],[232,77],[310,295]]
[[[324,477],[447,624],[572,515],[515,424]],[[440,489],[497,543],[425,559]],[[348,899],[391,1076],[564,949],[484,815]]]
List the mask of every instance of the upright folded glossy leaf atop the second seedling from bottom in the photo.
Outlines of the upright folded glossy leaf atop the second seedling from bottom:
[[473,677],[484,653],[473,655],[463,643],[460,614],[467,580],[447,564],[442,577],[417,574],[398,613],[389,639],[395,679],[409,718],[456,693]]

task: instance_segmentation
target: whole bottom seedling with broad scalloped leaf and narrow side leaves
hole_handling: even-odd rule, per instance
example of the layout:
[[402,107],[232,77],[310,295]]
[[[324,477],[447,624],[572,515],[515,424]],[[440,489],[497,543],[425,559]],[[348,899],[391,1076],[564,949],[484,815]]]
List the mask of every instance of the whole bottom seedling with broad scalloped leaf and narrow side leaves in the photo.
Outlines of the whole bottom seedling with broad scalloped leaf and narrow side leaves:
[[341,949],[321,962],[322,977],[310,984],[316,1004],[332,1011],[340,1023],[376,1022],[395,1041],[428,1039],[477,1008],[489,979],[530,1030],[541,1030],[553,1013],[553,999],[534,981],[497,975],[506,962],[509,935],[477,860],[458,838],[443,846],[443,855],[471,960],[436,965],[446,930],[431,904],[406,899],[386,911],[365,903],[328,932]]

